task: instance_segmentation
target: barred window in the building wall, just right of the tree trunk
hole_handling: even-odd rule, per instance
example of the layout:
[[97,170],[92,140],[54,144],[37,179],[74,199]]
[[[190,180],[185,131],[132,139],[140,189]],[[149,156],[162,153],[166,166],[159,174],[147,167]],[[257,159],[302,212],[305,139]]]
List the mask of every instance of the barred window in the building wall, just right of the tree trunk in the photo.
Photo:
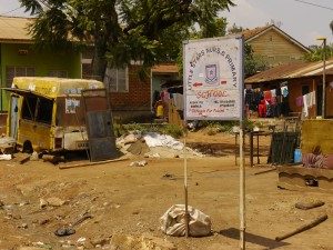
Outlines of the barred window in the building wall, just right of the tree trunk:
[[105,70],[104,84],[110,92],[129,91],[128,67],[123,69],[108,68]]

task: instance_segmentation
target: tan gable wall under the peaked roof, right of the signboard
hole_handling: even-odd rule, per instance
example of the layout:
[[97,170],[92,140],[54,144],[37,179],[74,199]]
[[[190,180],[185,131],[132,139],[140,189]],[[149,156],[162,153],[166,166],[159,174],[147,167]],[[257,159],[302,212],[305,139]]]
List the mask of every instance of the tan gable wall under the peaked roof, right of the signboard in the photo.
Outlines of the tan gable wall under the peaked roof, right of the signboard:
[[264,34],[248,41],[254,54],[262,56],[270,66],[283,64],[302,60],[305,51],[294,44],[275,30],[269,30]]

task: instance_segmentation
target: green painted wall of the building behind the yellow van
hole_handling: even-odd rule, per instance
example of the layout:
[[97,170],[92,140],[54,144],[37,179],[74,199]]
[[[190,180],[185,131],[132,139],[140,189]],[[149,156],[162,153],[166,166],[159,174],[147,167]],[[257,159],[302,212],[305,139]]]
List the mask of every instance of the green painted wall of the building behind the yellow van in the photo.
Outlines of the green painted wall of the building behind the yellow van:
[[[6,87],[7,67],[33,67],[36,77],[47,77],[49,71],[64,70],[68,78],[81,78],[81,56],[79,51],[34,50],[32,44],[0,44],[1,87]],[[19,50],[28,50],[19,54]],[[0,111],[7,110],[8,93],[0,96]]]

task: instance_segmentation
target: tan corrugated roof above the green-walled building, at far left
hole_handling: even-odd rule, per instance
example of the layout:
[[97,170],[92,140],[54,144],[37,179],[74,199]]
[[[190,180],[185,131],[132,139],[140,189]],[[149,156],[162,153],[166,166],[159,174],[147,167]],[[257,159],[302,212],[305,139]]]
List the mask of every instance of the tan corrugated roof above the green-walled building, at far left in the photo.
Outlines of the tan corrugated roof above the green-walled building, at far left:
[[30,42],[28,24],[32,18],[3,17],[0,16],[0,41]]

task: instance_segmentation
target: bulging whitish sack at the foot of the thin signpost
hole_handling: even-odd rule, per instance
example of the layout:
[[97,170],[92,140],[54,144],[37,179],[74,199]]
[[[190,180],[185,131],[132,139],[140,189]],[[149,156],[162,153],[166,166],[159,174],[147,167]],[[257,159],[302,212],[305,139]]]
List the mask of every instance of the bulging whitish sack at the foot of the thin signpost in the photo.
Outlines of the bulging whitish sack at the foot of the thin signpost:
[[[211,234],[212,222],[209,216],[200,210],[188,206],[189,234],[204,237]],[[168,236],[185,236],[185,206],[174,204],[160,218],[161,230]]]

